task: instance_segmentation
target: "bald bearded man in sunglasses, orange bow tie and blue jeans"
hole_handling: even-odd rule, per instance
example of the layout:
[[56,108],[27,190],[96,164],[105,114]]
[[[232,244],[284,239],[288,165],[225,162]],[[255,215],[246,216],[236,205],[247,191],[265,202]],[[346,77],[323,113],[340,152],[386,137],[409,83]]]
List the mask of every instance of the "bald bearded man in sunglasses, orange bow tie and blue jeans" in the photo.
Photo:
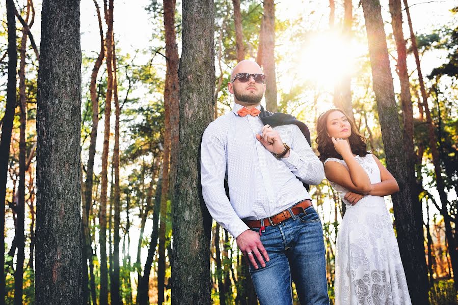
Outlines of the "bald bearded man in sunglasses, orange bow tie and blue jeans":
[[261,305],[292,305],[291,281],[302,305],[329,305],[321,221],[304,186],[319,184],[324,170],[305,125],[262,108],[264,81],[251,60],[232,70],[232,111],[202,138],[203,198],[248,259]]

